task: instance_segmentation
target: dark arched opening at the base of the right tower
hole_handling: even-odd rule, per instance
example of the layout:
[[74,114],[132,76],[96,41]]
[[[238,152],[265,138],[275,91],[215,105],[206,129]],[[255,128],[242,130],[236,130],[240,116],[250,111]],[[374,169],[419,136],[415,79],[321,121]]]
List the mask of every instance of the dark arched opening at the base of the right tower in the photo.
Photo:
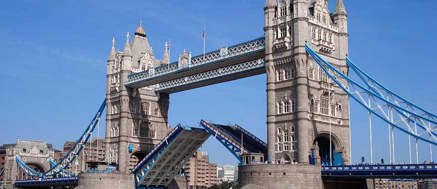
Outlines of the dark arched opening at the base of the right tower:
[[[331,136],[331,145],[329,145],[329,135],[320,135],[314,140],[314,144],[317,144],[317,163],[321,165],[341,165],[342,164],[342,154],[337,152],[336,140]],[[331,150],[330,150],[331,146]]]

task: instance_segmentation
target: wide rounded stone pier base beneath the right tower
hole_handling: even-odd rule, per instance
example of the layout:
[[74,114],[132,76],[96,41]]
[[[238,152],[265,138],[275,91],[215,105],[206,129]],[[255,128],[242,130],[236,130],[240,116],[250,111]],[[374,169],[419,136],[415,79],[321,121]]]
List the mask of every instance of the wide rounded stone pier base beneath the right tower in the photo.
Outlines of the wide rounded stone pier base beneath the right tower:
[[238,166],[239,189],[323,189],[320,166],[265,164]]

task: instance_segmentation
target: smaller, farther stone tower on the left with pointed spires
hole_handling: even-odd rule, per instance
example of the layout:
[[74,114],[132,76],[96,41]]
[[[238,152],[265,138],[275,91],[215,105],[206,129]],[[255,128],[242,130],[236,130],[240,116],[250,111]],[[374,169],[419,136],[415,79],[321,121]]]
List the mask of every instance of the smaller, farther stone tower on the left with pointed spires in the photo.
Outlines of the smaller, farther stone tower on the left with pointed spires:
[[169,95],[155,94],[153,86],[126,88],[124,82],[129,74],[168,64],[168,52],[165,46],[163,60],[155,59],[142,23],[132,42],[128,32],[123,52],[114,44],[107,61],[105,158],[126,173],[167,134]]

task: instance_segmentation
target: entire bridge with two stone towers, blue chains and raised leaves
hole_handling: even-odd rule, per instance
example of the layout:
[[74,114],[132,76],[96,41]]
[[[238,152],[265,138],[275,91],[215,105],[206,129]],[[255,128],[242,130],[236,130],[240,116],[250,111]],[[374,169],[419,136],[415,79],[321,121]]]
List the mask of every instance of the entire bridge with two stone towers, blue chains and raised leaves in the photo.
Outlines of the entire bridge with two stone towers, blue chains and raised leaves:
[[[173,63],[167,44],[157,60],[140,23],[132,41],[127,33],[122,52],[112,40],[105,101],[72,150],[59,160],[47,157],[44,171],[31,167],[22,153],[11,154],[13,163],[0,170],[0,177],[6,176],[0,186],[166,188],[183,175],[186,161],[209,137],[240,162],[241,189],[371,188],[366,179],[437,178],[436,164],[418,162],[419,141],[430,149],[437,145],[437,116],[390,91],[349,59],[344,2],[337,0],[334,13],[327,4],[267,0],[265,36],[194,57],[184,50]],[[168,131],[170,94],[260,74],[267,81],[267,142],[251,134],[250,127],[204,120],[201,128],[178,125]],[[350,99],[366,109],[370,131],[372,117],[387,123],[390,164],[351,165]],[[105,161],[116,164],[117,173],[75,175],[67,168],[80,158],[105,107]],[[410,164],[395,165],[394,129],[408,135]]]

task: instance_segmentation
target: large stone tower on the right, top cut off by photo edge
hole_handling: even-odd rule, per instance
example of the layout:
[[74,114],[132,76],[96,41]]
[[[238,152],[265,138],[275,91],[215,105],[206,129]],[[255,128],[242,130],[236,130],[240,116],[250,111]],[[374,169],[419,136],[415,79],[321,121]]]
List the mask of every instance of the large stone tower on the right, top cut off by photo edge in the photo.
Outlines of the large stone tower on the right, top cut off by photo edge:
[[[311,151],[330,163],[348,163],[349,99],[314,60],[308,43],[348,74],[347,12],[337,0],[267,0],[265,11],[268,155],[276,162],[309,164]],[[346,83],[345,83],[346,84]]]

